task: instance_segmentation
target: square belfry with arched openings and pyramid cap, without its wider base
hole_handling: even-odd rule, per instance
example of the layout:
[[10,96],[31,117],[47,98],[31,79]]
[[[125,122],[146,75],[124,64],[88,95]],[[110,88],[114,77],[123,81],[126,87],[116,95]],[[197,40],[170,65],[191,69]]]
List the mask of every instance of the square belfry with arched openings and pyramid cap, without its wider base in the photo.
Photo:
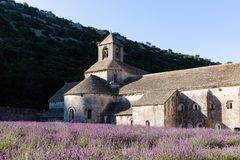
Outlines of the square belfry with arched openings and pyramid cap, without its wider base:
[[98,44],[98,61],[117,60],[123,62],[123,45],[110,33]]

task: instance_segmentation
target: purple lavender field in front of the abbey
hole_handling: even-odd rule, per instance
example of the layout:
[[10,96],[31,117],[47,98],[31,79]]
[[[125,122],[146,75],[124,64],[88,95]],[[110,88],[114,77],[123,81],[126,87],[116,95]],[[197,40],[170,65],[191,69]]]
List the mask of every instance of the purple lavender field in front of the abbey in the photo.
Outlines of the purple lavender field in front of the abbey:
[[75,123],[0,122],[0,159],[240,159],[240,133]]

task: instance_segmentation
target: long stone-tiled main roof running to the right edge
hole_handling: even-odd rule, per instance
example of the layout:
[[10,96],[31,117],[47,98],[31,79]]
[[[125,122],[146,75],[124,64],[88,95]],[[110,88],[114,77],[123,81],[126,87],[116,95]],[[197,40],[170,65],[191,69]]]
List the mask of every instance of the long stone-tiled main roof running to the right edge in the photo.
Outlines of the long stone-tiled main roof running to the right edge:
[[240,85],[240,63],[144,75],[141,79],[120,88],[120,94],[234,85]]

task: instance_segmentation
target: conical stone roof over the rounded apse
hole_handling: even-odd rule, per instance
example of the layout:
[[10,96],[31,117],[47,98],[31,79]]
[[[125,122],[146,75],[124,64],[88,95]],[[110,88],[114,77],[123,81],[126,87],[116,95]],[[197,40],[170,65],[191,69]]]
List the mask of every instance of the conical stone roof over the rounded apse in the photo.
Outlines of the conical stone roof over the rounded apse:
[[74,94],[111,94],[111,90],[108,88],[107,82],[104,79],[90,75],[65,93],[65,95]]

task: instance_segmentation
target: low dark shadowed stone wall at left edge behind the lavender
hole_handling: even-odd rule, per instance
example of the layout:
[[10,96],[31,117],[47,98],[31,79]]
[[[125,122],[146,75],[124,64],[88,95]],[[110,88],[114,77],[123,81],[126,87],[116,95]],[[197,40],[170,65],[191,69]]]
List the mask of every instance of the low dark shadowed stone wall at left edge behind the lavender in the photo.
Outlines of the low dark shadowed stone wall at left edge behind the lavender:
[[40,121],[41,113],[36,109],[0,107],[0,121]]

